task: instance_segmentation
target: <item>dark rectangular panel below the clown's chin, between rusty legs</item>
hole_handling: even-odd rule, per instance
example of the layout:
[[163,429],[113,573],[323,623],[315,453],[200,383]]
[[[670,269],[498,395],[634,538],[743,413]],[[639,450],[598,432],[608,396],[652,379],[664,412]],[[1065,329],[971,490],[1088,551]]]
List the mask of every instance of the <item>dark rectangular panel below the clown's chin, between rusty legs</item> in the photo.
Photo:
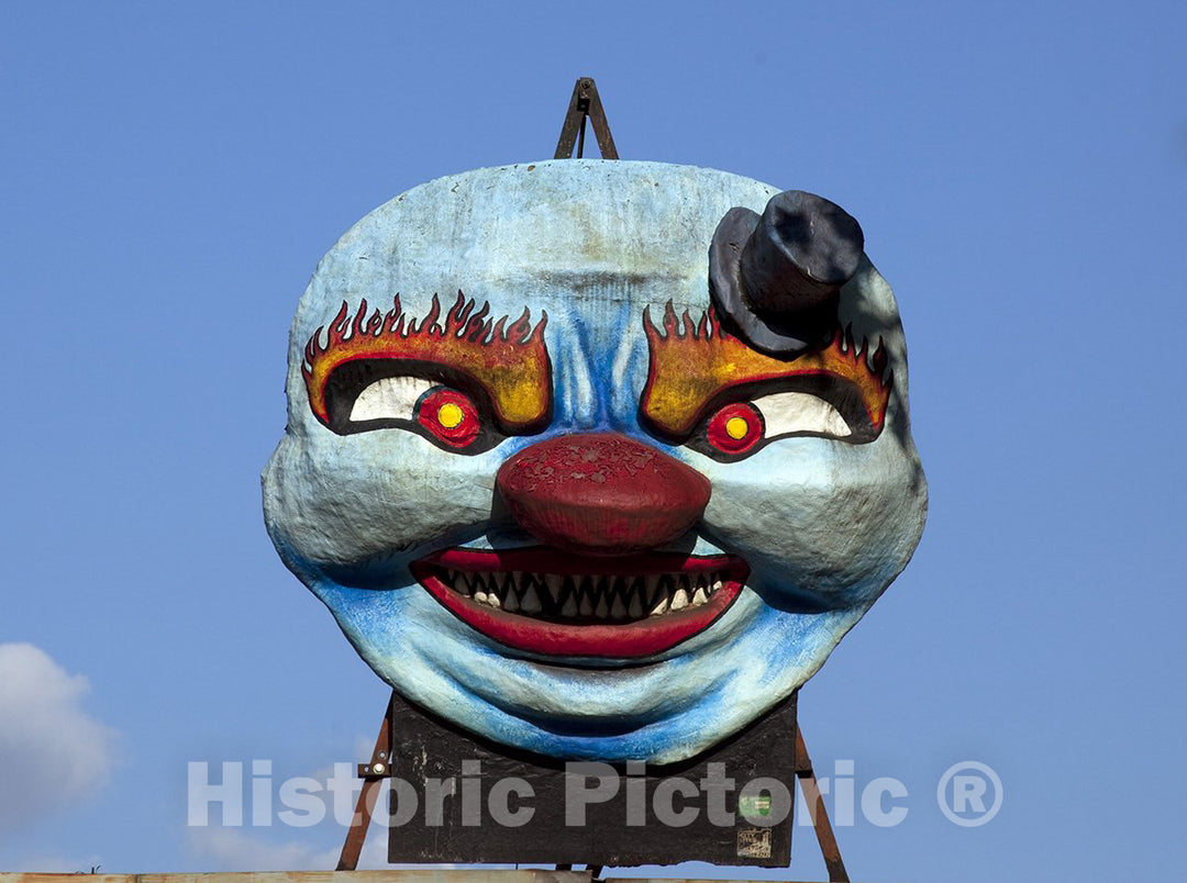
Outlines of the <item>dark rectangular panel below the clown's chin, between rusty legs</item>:
[[[399,824],[389,831],[388,860],[615,868],[704,860],[786,868],[794,801],[785,807],[777,799],[747,795],[741,802],[754,824],[738,811],[743,786],[756,779],[777,780],[794,795],[795,705],[793,694],[744,732],[690,761],[646,768],[610,764],[612,770],[601,768],[607,779],[599,780],[579,775],[564,761],[477,738],[394,698],[389,818]],[[509,808],[532,811],[526,824],[515,826],[496,820],[493,807],[502,806],[502,799],[491,798],[500,781],[512,779],[522,784],[516,784]],[[609,796],[612,781],[617,789]],[[585,788],[598,787],[605,788],[604,801],[583,800],[590,796]],[[577,824],[575,795],[584,806],[584,824]],[[669,798],[681,813],[680,825],[665,824]],[[692,808],[694,818],[686,819]],[[777,820],[783,808],[786,818]],[[731,824],[715,824],[728,817]]]

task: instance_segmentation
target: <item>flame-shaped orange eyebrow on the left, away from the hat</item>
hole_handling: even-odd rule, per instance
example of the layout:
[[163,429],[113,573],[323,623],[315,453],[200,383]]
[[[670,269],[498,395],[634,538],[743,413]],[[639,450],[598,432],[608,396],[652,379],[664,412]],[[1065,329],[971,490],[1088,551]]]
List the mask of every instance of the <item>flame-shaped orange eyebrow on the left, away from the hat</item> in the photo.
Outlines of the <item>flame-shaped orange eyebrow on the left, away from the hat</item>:
[[[396,294],[387,313],[368,316],[367,301],[350,317],[345,301],[329,326],[319,328],[305,345],[301,375],[313,414],[330,425],[326,381],[339,366],[363,358],[410,360],[461,371],[480,383],[490,398],[495,419],[508,432],[521,432],[547,419],[552,398],[552,374],[541,311],[533,326],[529,311],[508,325],[508,317],[488,316],[490,305],[475,311],[475,301],[462,292],[439,323],[440,304],[432,306],[418,324],[407,318]],[[322,342],[323,332],[325,342]]]

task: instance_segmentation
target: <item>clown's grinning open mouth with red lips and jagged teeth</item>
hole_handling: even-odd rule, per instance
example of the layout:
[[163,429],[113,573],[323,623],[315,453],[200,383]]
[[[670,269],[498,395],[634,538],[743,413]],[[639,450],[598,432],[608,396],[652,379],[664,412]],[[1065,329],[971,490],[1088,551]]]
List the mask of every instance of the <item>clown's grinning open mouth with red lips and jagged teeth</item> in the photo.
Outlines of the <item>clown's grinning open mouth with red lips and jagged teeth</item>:
[[589,558],[554,548],[451,548],[412,574],[500,643],[557,656],[662,653],[713,623],[749,573],[736,555]]

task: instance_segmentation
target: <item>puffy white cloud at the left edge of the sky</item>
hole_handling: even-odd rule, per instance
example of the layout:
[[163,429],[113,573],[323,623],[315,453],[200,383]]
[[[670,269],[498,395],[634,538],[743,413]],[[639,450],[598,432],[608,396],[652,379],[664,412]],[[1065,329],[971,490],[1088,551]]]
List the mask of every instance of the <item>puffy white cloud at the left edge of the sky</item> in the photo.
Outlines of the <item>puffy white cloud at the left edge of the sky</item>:
[[91,796],[114,730],[81,707],[90,685],[30,643],[0,643],[0,830]]

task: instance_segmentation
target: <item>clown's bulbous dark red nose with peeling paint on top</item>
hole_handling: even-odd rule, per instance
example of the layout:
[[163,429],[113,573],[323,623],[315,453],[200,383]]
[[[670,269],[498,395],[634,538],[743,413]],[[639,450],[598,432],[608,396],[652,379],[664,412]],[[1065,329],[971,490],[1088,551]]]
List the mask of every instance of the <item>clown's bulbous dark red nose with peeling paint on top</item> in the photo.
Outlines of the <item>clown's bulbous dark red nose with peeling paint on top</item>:
[[525,447],[496,484],[520,527],[550,546],[616,555],[685,533],[712,485],[696,469],[615,433],[558,436]]

